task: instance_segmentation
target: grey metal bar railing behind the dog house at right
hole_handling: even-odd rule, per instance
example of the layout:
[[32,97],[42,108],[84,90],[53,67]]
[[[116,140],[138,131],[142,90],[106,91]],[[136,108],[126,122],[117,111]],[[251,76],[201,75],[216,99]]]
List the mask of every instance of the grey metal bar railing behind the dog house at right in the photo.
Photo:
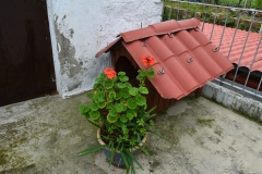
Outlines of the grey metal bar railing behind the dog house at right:
[[163,21],[192,17],[201,21],[203,33],[235,66],[214,83],[262,100],[262,11],[179,0],[165,1]]

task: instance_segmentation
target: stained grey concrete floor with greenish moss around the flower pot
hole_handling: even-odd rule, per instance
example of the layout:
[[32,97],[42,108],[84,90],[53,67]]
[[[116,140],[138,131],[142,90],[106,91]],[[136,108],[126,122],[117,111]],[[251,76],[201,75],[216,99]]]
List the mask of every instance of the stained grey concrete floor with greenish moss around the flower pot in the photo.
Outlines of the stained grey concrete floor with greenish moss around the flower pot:
[[[96,145],[96,128],[79,113],[85,94],[45,97],[0,108],[0,173],[123,174],[102,152],[79,158]],[[139,156],[138,174],[262,174],[262,125],[203,97],[189,96],[156,127],[168,141],[150,135],[152,157]]]

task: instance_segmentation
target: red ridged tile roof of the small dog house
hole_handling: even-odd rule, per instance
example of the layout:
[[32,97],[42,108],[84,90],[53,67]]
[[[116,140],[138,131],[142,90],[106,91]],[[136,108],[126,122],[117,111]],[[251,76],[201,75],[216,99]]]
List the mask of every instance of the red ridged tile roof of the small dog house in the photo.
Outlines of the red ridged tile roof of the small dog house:
[[[155,77],[151,79],[163,98],[180,99],[233,69],[231,63],[201,32],[196,18],[167,21],[145,28],[121,33],[122,45],[141,69],[141,58],[152,55]],[[119,38],[114,42],[118,42]],[[110,48],[114,44],[110,45]],[[106,47],[103,52],[109,51]],[[164,70],[164,74],[159,71]]]

